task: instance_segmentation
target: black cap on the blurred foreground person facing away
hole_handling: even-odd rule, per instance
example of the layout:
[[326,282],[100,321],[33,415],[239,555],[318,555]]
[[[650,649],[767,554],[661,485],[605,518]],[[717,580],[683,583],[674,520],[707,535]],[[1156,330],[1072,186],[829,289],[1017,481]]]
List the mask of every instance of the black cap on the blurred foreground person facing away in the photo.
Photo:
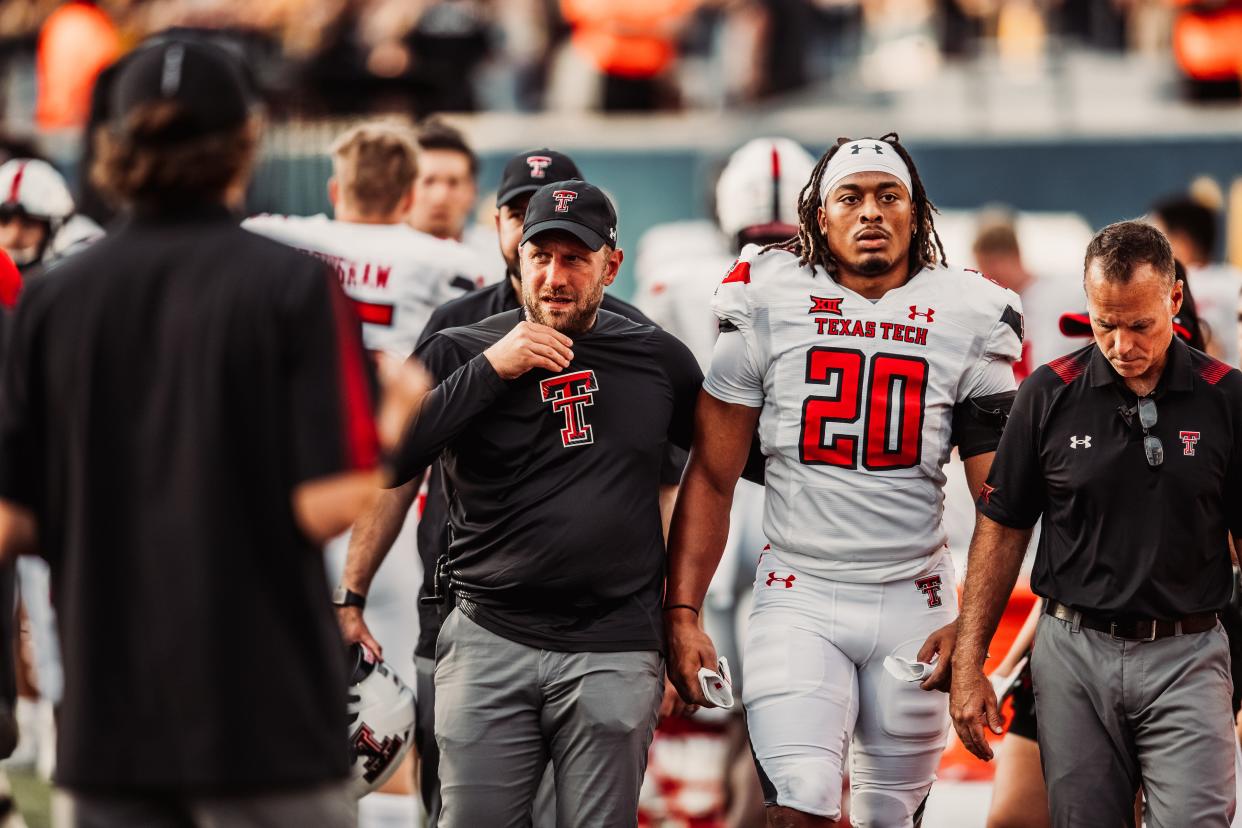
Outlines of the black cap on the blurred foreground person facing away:
[[159,101],[175,101],[184,112],[164,139],[232,129],[250,114],[240,58],[201,40],[161,40],[124,58],[112,87],[114,127],[123,132],[137,107]]

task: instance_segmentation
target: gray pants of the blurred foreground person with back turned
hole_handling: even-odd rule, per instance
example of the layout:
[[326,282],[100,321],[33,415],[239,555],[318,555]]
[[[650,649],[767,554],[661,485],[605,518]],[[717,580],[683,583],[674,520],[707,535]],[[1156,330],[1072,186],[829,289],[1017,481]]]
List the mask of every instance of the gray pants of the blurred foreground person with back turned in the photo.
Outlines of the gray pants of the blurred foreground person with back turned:
[[129,796],[57,791],[58,828],[356,828],[358,801],[347,785],[247,796]]

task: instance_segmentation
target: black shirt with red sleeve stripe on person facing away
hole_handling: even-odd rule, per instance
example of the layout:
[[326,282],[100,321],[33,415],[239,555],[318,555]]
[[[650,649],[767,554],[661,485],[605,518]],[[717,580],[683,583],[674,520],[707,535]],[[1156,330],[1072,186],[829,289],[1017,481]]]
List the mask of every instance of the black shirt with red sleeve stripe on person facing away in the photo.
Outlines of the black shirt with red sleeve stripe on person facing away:
[[52,567],[57,782],[343,778],[344,653],[291,502],[378,459],[334,277],[222,207],[139,216],[31,283],[14,325],[0,498]]

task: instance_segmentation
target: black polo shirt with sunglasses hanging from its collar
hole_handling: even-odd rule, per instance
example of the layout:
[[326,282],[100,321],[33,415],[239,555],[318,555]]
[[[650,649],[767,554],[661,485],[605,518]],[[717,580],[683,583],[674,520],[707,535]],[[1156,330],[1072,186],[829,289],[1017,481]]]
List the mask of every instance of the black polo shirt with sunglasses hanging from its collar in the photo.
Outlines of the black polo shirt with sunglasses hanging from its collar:
[[1242,372],[1174,338],[1153,392],[1164,463],[1148,466],[1134,392],[1094,345],[1022,384],[979,506],[1042,515],[1036,593],[1102,616],[1179,618],[1230,598],[1242,535]]

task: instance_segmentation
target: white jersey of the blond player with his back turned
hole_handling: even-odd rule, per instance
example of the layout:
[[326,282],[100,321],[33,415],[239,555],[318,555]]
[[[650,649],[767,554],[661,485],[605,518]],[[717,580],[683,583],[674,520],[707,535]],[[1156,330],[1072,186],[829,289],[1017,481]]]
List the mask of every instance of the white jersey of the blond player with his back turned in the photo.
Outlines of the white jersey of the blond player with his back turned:
[[262,215],[242,227],[332,264],[363,319],[366,348],[400,358],[414,353],[432,310],[483,284],[473,252],[404,223]]

